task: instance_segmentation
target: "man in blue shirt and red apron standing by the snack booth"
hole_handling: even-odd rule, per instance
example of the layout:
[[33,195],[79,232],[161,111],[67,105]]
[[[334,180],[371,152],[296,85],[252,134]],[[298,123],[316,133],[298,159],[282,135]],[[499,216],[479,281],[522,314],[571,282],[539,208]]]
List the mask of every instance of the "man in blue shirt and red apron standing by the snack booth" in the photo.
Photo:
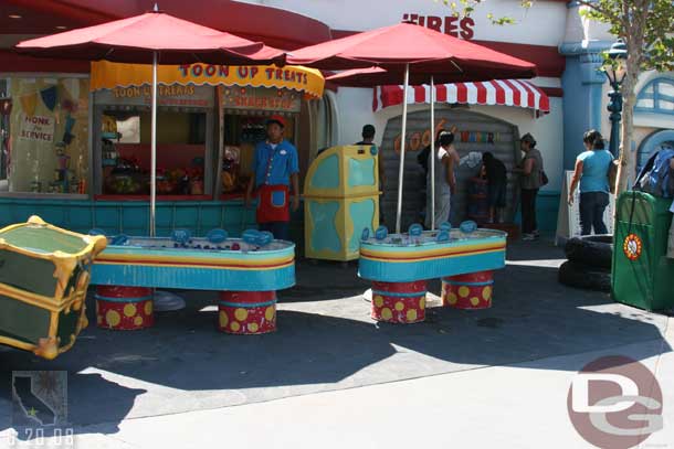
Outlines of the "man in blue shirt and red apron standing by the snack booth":
[[253,190],[257,192],[255,218],[261,231],[287,240],[291,222],[289,186],[293,185],[293,212],[299,209],[299,164],[297,149],[283,139],[285,119],[272,116],[266,124],[267,139],[257,143],[253,154],[253,177],[245,192],[246,207]]

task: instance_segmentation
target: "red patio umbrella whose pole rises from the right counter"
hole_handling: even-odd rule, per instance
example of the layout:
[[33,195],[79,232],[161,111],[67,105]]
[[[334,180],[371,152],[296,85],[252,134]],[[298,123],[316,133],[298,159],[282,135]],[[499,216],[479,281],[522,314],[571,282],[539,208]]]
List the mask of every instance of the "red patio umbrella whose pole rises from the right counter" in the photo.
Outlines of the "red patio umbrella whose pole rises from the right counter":
[[[366,68],[368,71],[361,74],[361,86],[394,84],[379,81],[397,76],[400,79],[402,76],[406,97],[410,73],[415,81],[423,76],[424,82],[430,78],[431,83],[434,78],[450,83],[536,76],[536,66],[529,62],[411,23],[399,23],[307,46],[288,54],[288,62],[333,71]],[[373,65],[377,67],[372,68]],[[379,72],[381,68],[388,72]],[[366,84],[367,81],[377,83]],[[407,98],[402,101],[402,136],[406,131]],[[398,173],[397,233],[400,233],[402,214],[404,147],[403,138]],[[431,170],[434,172],[434,163]]]

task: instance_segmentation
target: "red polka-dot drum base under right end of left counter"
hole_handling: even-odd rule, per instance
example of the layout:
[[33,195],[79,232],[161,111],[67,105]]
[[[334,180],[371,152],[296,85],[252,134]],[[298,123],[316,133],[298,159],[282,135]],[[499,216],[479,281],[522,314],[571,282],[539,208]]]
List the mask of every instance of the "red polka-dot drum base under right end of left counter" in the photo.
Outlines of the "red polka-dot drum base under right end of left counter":
[[276,330],[275,291],[222,291],[218,329],[225,333],[255,335]]

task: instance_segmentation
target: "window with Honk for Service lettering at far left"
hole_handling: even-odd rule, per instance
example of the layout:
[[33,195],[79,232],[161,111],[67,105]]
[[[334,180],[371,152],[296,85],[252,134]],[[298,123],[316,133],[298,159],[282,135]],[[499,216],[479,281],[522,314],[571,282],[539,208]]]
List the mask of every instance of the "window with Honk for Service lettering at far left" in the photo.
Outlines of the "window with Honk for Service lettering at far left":
[[[86,193],[88,79],[12,77],[7,192]],[[9,145],[7,145],[9,143]]]

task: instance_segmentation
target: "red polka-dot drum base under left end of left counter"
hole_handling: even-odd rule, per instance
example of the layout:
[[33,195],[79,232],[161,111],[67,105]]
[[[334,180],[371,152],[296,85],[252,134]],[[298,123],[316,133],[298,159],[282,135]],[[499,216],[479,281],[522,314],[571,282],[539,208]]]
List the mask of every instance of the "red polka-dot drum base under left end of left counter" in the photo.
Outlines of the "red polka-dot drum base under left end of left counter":
[[152,291],[139,287],[96,289],[96,324],[114,331],[137,331],[155,324]]

